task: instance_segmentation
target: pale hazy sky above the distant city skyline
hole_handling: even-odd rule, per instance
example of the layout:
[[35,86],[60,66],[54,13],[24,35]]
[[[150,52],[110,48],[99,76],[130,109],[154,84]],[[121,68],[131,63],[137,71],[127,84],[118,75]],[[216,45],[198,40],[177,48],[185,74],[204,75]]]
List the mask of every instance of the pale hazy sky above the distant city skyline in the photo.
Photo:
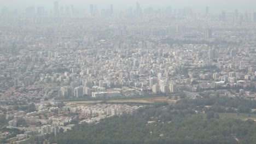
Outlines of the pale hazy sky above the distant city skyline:
[[[56,0],[0,0],[0,5],[8,8],[22,8],[28,6],[44,6],[53,8],[53,3]],[[220,10],[255,10],[256,0],[59,0],[60,5],[71,5],[75,7],[88,9],[89,4],[96,4],[99,8],[108,7],[109,4],[114,4],[115,9],[135,7],[135,2],[139,2],[142,8],[145,7],[166,7],[172,8],[191,7],[196,10],[205,9],[206,6],[210,11]]]

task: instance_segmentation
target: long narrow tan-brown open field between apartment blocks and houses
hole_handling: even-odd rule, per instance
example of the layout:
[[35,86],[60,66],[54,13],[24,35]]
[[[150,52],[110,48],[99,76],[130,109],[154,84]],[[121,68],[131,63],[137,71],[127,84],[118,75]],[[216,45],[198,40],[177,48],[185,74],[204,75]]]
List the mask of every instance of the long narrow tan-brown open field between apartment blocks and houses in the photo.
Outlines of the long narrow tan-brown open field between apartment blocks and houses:
[[[169,99],[168,97],[148,97],[148,98],[131,98],[131,99],[115,99],[106,100],[109,103],[144,103],[150,104],[156,101],[168,101],[168,103],[176,103],[177,100]],[[90,100],[90,101],[66,101],[67,105],[92,105],[101,103],[102,100]]]

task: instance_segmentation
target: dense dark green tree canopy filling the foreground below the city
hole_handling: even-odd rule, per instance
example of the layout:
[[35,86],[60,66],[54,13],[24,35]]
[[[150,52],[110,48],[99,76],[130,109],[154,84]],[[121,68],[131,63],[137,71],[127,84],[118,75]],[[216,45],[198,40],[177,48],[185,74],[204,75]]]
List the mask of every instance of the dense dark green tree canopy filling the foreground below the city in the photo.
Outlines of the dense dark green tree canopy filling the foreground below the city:
[[[188,101],[183,103],[190,104]],[[213,110],[196,114],[190,105],[179,107],[179,110],[173,107],[177,108],[157,103],[139,109],[135,115],[105,118],[97,124],[78,124],[49,140],[53,143],[109,144],[255,143],[256,123],[252,120],[220,118]]]

